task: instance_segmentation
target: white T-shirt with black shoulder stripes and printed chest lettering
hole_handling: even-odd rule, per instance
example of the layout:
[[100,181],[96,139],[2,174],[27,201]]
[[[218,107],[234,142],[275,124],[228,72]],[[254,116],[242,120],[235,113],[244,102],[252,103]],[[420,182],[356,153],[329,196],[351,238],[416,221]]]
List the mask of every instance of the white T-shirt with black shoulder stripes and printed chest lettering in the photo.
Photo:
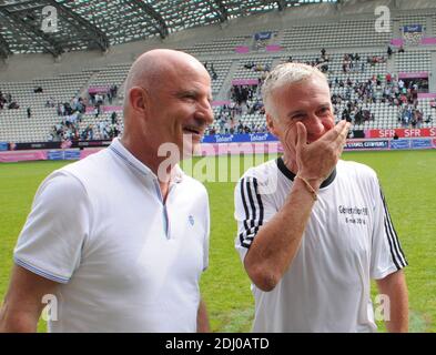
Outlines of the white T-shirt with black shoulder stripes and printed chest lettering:
[[[241,260],[283,206],[295,175],[282,159],[250,169],[235,189]],[[302,243],[271,292],[252,285],[253,332],[374,332],[371,278],[407,265],[375,172],[339,161],[322,184]]]

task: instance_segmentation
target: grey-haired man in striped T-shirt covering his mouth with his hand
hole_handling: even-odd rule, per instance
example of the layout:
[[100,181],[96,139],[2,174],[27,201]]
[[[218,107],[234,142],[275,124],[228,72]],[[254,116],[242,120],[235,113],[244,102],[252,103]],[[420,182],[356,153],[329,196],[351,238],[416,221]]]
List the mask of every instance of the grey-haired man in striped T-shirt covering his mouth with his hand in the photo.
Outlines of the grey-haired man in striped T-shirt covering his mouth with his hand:
[[235,187],[235,246],[252,281],[254,332],[375,332],[371,278],[389,332],[408,328],[407,265],[376,173],[339,160],[327,80],[301,63],[263,85],[266,123],[284,154]]

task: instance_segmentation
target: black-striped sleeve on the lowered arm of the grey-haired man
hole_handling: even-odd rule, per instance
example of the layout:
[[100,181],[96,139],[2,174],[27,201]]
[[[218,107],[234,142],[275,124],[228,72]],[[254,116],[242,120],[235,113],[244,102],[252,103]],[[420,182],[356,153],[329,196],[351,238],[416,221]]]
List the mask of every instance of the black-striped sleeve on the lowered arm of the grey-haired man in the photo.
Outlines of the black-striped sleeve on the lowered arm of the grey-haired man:
[[381,280],[405,267],[407,260],[387,210],[386,199],[378,183],[376,190],[371,277]]

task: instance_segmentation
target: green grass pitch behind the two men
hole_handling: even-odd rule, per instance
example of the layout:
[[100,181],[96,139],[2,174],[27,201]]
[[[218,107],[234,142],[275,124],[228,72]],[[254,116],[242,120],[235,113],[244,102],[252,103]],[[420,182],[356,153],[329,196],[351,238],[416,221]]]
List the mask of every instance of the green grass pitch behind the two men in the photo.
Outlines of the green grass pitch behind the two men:
[[[274,155],[270,156],[275,158]],[[353,152],[343,159],[371,165],[379,176],[391,215],[406,253],[409,266],[406,277],[409,291],[410,331],[436,332],[436,151]],[[184,169],[195,176],[205,174],[205,165],[221,173],[240,166],[240,174],[266,156],[237,156],[187,162]],[[229,165],[227,165],[229,163]],[[7,291],[17,236],[30,211],[34,192],[50,172],[68,162],[32,162],[0,164],[0,298]],[[194,166],[191,169],[190,166]],[[186,168],[187,166],[187,168]],[[199,168],[200,166],[200,168]],[[229,172],[229,176],[231,173]],[[217,175],[215,176],[217,178]],[[212,176],[209,176],[211,180]],[[205,182],[211,203],[210,267],[201,281],[203,298],[214,332],[249,332],[253,321],[250,281],[234,250],[236,225],[233,219],[232,182]],[[373,295],[375,296],[376,290]],[[45,324],[40,322],[39,331]],[[384,331],[381,324],[381,331]]]

